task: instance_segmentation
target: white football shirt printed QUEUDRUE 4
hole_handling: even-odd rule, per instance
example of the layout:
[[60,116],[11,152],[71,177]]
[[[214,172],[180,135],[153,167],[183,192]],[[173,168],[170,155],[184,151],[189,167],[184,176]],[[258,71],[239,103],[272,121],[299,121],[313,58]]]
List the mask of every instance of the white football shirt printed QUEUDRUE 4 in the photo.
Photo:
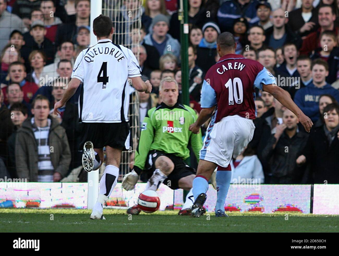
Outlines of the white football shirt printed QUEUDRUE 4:
[[128,77],[141,76],[133,52],[102,39],[77,57],[72,78],[82,82],[79,121],[120,123],[128,121]]

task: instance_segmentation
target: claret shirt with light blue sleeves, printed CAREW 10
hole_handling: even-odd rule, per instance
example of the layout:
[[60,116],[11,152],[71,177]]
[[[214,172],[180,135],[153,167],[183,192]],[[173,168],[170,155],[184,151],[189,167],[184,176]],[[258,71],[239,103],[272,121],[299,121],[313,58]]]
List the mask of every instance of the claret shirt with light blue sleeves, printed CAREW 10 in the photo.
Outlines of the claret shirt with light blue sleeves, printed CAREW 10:
[[254,119],[254,88],[262,90],[263,84],[277,84],[264,66],[239,54],[226,54],[206,73],[201,89],[201,107],[217,105],[215,122],[233,115]]

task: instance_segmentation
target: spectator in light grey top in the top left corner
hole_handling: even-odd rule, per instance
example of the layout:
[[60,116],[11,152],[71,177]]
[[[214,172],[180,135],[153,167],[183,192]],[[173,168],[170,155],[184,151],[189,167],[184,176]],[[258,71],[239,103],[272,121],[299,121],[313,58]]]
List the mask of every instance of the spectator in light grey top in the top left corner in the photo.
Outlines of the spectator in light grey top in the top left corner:
[[28,30],[22,19],[9,13],[6,7],[7,1],[0,0],[0,50],[7,44],[8,38],[13,30],[19,30],[20,32],[26,32]]

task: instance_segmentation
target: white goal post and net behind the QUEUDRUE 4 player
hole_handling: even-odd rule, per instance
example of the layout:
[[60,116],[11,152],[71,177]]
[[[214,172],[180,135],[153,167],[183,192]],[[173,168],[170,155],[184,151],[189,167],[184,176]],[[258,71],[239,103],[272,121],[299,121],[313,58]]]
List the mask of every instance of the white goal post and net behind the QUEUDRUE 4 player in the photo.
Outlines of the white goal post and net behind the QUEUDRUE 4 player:
[[[124,5],[126,2],[128,3],[128,6]],[[123,45],[131,50],[134,47],[137,47],[137,51],[139,53],[142,4],[143,0],[92,0],[90,44],[95,45],[97,43],[97,38],[93,33],[93,21],[100,14],[103,14],[110,17],[113,21],[113,43]],[[121,164],[119,168],[120,175],[118,182],[121,182],[122,177],[129,172],[130,167],[133,167],[134,153],[140,137],[139,94],[137,91],[134,91],[129,95],[129,97],[130,101],[128,119],[131,128],[132,147],[130,147],[128,151],[124,151],[121,154]],[[103,164],[99,170],[88,173],[88,209],[93,209],[93,206],[97,201],[99,192],[99,178],[102,176],[104,169],[105,165]]]

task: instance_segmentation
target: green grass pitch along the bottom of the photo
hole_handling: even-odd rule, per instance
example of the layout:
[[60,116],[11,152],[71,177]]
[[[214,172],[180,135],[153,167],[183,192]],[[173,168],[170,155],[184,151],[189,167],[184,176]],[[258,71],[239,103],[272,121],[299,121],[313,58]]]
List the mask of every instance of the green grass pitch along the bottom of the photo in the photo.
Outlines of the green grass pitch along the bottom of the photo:
[[[52,215],[51,215],[52,214]],[[178,211],[127,215],[104,209],[105,220],[89,219],[90,210],[0,209],[0,232],[339,232],[338,215],[214,213],[199,218]],[[208,215],[210,214],[210,215]]]

